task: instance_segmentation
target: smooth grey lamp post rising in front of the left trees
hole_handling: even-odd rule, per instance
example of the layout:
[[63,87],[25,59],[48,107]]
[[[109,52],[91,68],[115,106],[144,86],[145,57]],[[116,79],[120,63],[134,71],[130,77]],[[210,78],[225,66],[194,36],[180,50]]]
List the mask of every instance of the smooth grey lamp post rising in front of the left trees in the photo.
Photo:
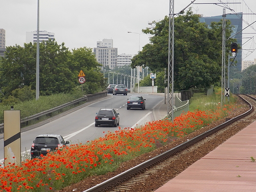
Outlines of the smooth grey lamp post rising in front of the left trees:
[[35,100],[39,98],[39,0],[37,0]]

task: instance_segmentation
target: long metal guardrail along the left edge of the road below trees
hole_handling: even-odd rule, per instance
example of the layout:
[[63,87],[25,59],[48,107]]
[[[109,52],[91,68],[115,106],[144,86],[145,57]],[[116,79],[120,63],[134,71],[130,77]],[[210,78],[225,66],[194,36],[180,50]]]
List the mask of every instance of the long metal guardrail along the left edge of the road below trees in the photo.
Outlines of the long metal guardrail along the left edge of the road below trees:
[[[25,118],[21,119],[21,124],[28,124],[29,121],[36,120],[36,119],[39,119],[40,117],[50,115],[51,113],[62,110],[63,108],[68,107],[70,105],[74,105],[74,106],[79,105],[80,102],[90,102],[90,101],[96,100],[98,98],[102,98],[104,96],[107,96],[106,91],[96,93],[96,94],[90,94],[90,95],[87,95],[87,96],[83,96],[81,98],[78,98],[78,99],[75,99],[73,101],[67,102],[67,103],[62,104],[60,106],[54,107],[52,109],[37,113],[37,114],[29,116],[29,117],[25,117]],[[3,133],[3,124],[0,124],[0,133]]]

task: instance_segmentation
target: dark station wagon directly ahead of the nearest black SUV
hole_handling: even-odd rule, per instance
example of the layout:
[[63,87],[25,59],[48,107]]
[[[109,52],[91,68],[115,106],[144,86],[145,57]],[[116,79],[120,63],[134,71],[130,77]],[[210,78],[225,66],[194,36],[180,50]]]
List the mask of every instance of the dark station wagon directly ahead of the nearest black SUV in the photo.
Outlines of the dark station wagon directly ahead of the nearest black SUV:
[[100,125],[119,126],[119,113],[115,109],[100,109],[96,113],[95,127]]

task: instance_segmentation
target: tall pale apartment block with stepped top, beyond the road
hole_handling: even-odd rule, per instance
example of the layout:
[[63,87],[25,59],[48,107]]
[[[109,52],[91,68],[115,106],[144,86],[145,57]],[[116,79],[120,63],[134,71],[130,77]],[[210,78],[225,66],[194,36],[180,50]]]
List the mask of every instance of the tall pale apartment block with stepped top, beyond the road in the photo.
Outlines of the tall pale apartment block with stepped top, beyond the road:
[[95,57],[98,63],[102,64],[103,67],[106,65],[110,69],[117,66],[117,48],[113,48],[113,39],[103,39],[97,41],[97,47],[94,48]]

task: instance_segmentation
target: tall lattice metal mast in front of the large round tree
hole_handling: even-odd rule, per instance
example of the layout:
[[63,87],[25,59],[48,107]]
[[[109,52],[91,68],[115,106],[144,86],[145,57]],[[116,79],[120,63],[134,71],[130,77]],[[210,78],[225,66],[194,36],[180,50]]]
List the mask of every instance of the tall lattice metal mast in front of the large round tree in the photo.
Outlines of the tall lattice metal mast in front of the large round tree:
[[[171,118],[173,122],[173,105],[174,105],[174,0],[170,0],[170,9],[169,9],[169,41],[168,41],[168,87],[167,87],[167,116]],[[170,91],[171,89],[171,91]]]

